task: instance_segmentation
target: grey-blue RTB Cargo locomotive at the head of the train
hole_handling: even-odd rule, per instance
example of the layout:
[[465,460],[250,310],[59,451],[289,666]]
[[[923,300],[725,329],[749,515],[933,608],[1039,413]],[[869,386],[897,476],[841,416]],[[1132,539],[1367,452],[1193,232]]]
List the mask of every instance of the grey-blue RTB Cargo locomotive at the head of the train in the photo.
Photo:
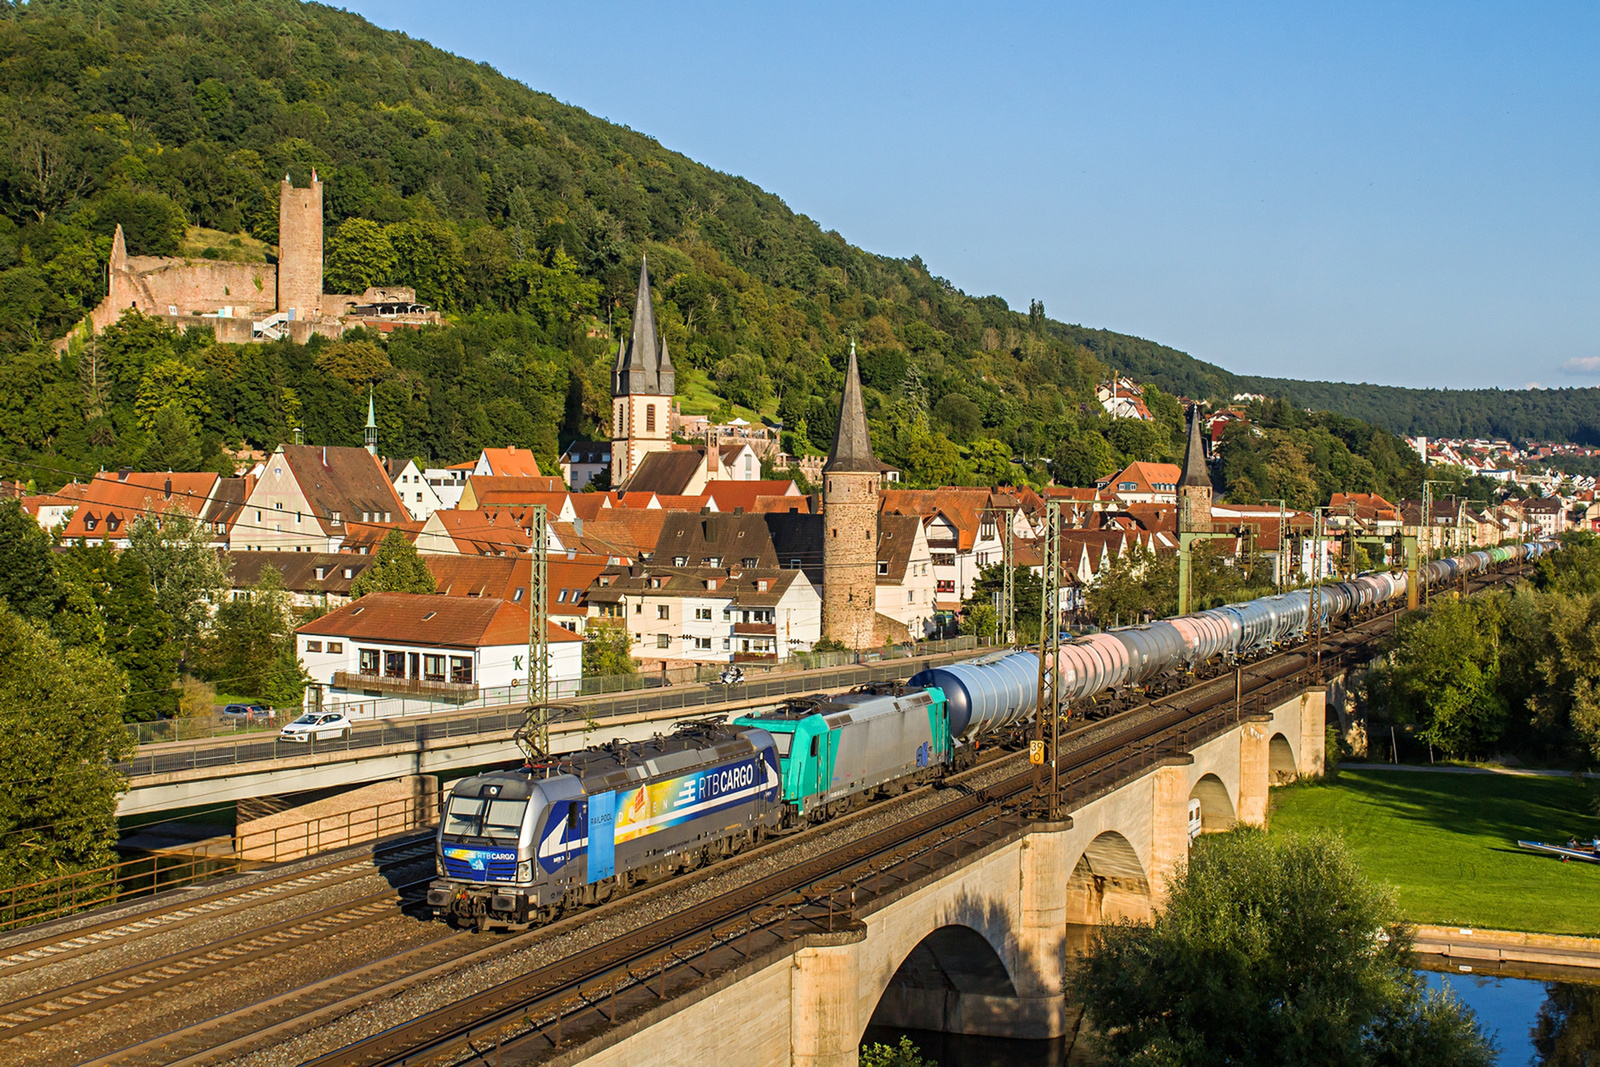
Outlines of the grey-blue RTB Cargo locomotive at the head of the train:
[[778,768],[763,729],[688,725],[462,779],[427,902],[478,929],[520,928],[730,856],[782,824]]

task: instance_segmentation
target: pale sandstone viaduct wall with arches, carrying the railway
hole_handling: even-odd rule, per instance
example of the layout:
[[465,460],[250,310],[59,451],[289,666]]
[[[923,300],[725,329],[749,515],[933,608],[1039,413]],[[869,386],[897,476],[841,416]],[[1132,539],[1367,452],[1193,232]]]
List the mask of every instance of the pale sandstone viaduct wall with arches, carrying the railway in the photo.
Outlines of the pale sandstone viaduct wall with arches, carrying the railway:
[[926,878],[610,1027],[546,1062],[856,1064],[869,1022],[1050,1038],[1075,1027],[1064,997],[1086,928],[1149,918],[1189,849],[1190,800],[1202,832],[1262,825],[1267,790],[1323,769],[1326,689],[1168,757],[1114,789],[944,861]]

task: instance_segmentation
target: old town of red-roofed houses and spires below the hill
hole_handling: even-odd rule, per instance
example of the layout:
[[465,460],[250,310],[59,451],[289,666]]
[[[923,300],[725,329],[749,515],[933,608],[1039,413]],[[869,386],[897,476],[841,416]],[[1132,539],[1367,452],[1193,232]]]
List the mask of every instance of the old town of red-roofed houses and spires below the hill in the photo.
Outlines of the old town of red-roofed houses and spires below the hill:
[[[1094,485],[1038,491],[906,488],[872,448],[854,347],[826,458],[786,454],[773,424],[683,414],[677,374],[642,264],[611,366],[610,437],[573,440],[549,470],[512,443],[443,467],[386,456],[368,395],[362,446],[283,443],[238,477],[102,472],[22,502],[62,541],[118,549],[142,518],[195,520],[227,563],[227,597],[250,597],[270,568],[296,609],[320,613],[296,638],[302,662],[317,686],[350,699],[445,699],[525,680],[541,533],[552,677],[576,683],[584,640],[608,632],[646,672],[950,637],[1008,555],[1040,571],[1050,509],[1062,525],[1069,609],[1118,560],[1176,553],[1184,530],[1203,530],[1227,566],[1288,587],[1341,568],[1400,566],[1413,550],[1600,528],[1594,480],[1550,474],[1566,453],[1530,459],[1506,442],[1411,445],[1531,496],[1442,493],[1424,506],[1341,491],[1317,515],[1213,501],[1210,467],[1230,435],[1254,432],[1248,395],[1214,411],[1189,405],[1182,464],[1131,462]],[[1117,419],[1150,421],[1146,395],[1126,376],[1098,390]],[[774,474],[787,470],[805,486]],[[397,534],[437,592],[355,597]]]

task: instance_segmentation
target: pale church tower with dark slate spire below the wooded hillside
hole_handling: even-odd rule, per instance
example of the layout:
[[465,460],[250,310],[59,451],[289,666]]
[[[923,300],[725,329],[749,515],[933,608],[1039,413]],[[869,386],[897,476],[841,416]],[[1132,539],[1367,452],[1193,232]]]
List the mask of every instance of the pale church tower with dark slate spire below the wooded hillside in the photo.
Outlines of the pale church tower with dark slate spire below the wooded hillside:
[[611,368],[611,485],[621,486],[650,453],[672,448],[672,394],[677,392],[666,338],[656,333],[650,266],[638,264],[634,331],[618,341]]

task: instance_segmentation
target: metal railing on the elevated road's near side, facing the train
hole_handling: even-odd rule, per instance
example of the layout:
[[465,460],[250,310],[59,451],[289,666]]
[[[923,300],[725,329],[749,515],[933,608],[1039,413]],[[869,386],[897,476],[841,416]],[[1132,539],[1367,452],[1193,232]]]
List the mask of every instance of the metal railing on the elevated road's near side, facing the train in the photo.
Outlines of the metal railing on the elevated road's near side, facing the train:
[[[971,638],[968,638],[971,640]],[[954,645],[954,643],[952,643]],[[960,654],[965,648],[941,649],[938,654]],[[578,723],[589,723],[598,718],[626,718],[629,715],[651,715],[661,720],[674,718],[672,712],[704,712],[722,704],[758,699],[782,699],[795,693],[810,693],[818,688],[851,686],[872,681],[893,681],[904,670],[894,662],[906,659],[880,657],[877,653],[862,654],[861,665],[822,667],[816,670],[795,670],[771,677],[752,678],[734,686],[666,686],[635,691],[632,696],[622,694],[600,702],[578,705],[571,710],[558,712],[552,720],[557,733],[582,731]],[[478,715],[453,715],[448,718],[424,720],[374,720],[357,721],[344,737],[330,741],[278,741],[275,734],[245,734],[230,742],[171,749],[160,752],[144,752],[118,763],[117,769],[126,777],[149,777],[152,774],[171,774],[214,766],[234,766],[240,763],[259,763],[275,760],[283,755],[326,753],[326,752],[360,752],[365,749],[381,749],[386,745],[422,745],[427,742],[448,741],[451,737],[469,737],[474,734],[512,733],[525,721],[520,702],[502,705],[501,710]],[[566,729],[562,729],[566,726]],[[587,733],[587,731],[582,731]]]

